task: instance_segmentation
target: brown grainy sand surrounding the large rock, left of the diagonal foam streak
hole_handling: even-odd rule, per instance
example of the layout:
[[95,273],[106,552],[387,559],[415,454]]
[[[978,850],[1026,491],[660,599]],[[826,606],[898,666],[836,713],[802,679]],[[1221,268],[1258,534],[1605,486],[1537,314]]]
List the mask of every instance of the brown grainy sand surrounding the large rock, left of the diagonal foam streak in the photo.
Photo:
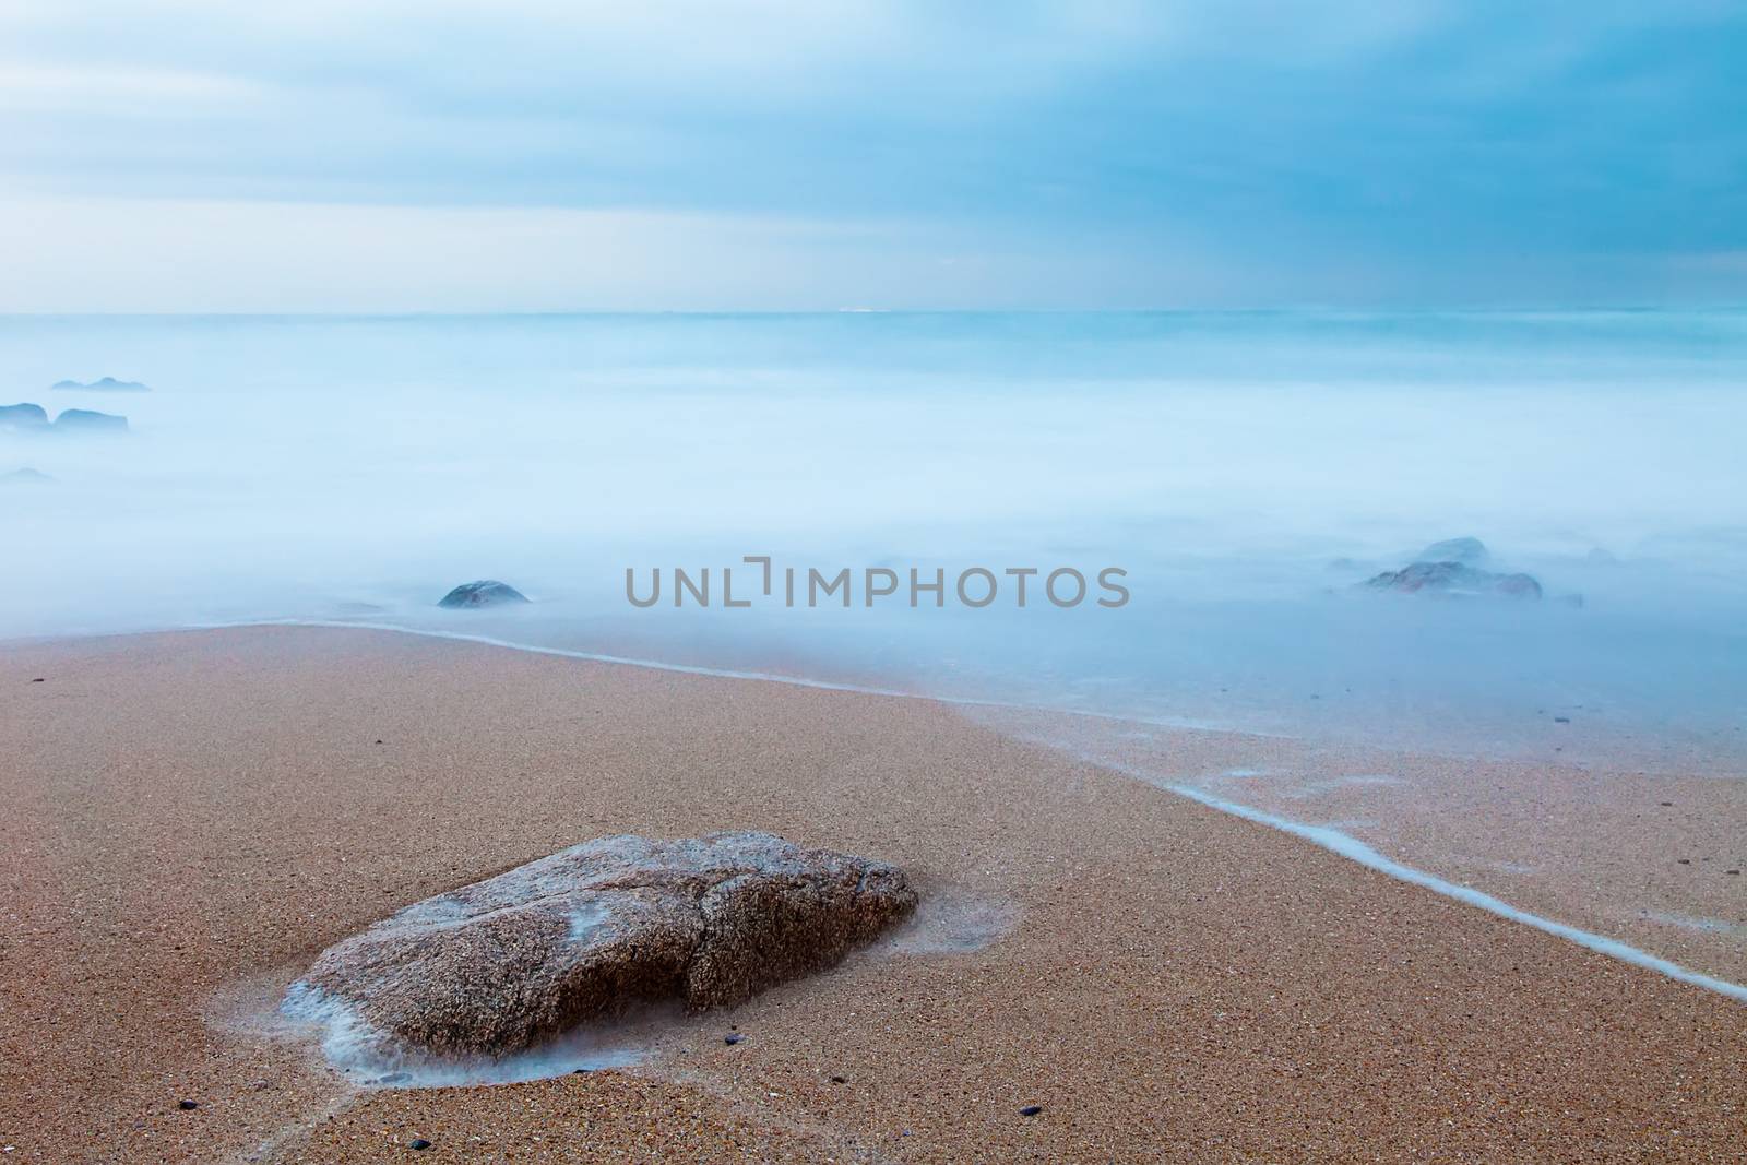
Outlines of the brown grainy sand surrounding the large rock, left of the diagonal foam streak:
[[[938,704],[325,629],[12,645],[0,693],[7,1160],[1742,1160],[1747,1006]],[[531,1085],[276,1029],[393,908],[718,828],[1010,929]]]

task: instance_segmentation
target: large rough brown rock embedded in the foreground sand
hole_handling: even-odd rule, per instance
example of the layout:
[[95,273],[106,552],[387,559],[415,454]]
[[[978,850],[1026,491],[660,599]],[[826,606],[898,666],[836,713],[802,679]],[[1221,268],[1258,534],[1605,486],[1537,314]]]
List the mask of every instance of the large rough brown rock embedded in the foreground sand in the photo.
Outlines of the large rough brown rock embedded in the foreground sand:
[[328,947],[290,1001],[426,1053],[503,1055],[634,1004],[741,1003],[914,908],[901,870],[770,833],[608,837]]

